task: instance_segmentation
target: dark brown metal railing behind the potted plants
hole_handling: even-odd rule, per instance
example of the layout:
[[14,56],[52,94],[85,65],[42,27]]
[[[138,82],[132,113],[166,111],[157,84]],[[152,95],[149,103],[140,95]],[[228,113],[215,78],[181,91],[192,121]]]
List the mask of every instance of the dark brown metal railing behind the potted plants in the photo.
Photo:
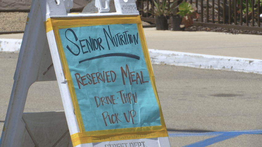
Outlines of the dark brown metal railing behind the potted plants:
[[[173,0],[167,1],[168,6],[166,9],[170,9],[170,4]],[[200,16],[197,20],[194,20],[193,25],[262,31],[262,21],[260,18],[262,6],[260,5],[260,1],[261,0],[189,0],[188,2],[198,8],[197,12]],[[138,8],[140,8],[141,20],[155,23],[155,16],[148,12],[154,10],[154,1],[140,0],[137,3]],[[174,6],[178,4],[179,2],[176,2]],[[173,14],[176,14],[177,11],[176,9]]]

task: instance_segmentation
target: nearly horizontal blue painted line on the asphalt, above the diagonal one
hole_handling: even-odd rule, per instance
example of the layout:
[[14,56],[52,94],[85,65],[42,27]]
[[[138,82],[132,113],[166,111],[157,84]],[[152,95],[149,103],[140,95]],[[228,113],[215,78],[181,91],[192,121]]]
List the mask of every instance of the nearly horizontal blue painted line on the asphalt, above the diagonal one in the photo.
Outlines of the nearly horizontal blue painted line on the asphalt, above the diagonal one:
[[232,134],[262,134],[261,130],[243,130],[243,131],[223,131],[223,132],[207,132],[207,133],[168,133],[168,137],[194,137],[194,136],[218,136],[224,133]]

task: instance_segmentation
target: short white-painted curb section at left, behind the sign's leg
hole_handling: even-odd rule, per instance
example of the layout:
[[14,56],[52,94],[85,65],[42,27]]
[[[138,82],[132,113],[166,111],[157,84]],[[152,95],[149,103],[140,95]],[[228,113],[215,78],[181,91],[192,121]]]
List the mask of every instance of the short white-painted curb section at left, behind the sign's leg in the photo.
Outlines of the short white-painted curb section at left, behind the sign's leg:
[[19,52],[22,39],[0,39],[0,52]]

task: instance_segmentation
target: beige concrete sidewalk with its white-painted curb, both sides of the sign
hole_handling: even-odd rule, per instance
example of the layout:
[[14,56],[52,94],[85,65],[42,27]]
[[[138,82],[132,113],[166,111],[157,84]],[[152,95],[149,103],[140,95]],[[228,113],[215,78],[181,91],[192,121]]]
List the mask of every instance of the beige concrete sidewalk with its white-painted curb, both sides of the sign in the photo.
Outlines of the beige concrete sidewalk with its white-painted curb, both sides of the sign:
[[[153,64],[262,73],[262,36],[144,28]],[[19,52],[23,34],[0,35],[0,51]]]

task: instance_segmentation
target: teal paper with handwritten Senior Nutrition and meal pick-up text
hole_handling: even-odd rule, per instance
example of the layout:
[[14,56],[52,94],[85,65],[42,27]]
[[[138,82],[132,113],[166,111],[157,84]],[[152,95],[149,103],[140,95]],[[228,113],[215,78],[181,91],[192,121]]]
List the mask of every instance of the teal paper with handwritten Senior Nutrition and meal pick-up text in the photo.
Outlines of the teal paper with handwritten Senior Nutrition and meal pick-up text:
[[137,24],[59,29],[85,131],[159,126]]

